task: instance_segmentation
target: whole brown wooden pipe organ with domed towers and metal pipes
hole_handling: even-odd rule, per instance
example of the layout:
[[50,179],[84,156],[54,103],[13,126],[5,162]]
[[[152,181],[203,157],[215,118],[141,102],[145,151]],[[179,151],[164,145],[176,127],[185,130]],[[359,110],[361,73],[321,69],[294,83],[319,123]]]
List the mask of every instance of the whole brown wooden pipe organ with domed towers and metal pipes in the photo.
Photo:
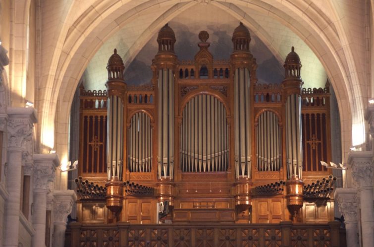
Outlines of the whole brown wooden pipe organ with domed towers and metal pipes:
[[[234,30],[228,60],[213,58],[206,31],[199,39],[194,60],[178,61],[174,32],[165,25],[150,84],[126,86],[115,51],[107,67],[108,90],[81,87],[78,222],[333,221],[336,178],[320,165],[331,160],[328,83],[325,88],[302,88],[301,63],[293,47],[284,64],[284,81],[257,83],[250,33],[242,24]],[[121,90],[109,84],[116,79],[124,85]],[[120,107],[115,100],[122,100]],[[110,123],[108,108],[122,111],[111,115],[115,119]],[[115,125],[119,128],[113,134]],[[121,139],[115,154],[108,135]],[[117,157],[116,166],[111,166],[115,159],[107,158],[108,152]],[[110,194],[115,190],[108,181],[117,182],[117,198]],[[159,219],[158,203],[166,201],[169,213]],[[134,231],[139,240],[140,230]],[[130,230],[128,234],[129,241]],[[78,235],[73,232],[72,238]]]

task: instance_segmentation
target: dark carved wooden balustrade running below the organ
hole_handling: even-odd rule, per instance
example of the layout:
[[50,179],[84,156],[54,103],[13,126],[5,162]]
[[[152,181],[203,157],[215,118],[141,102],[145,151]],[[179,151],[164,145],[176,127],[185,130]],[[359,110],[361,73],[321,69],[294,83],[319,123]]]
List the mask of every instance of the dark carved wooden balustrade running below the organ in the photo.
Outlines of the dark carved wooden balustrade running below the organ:
[[[166,246],[305,246],[340,247],[340,222],[328,224],[188,224],[130,225],[71,223],[66,244],[71,247]],[[342,234],[344,236],[344,234]]]

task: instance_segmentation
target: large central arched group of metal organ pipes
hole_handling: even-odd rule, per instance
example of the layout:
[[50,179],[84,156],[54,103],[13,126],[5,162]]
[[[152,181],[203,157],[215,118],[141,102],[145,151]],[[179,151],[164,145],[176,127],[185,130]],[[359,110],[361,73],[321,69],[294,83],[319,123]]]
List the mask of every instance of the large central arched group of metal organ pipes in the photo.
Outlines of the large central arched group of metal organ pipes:
[[227,171],[226,109],[216,97],[196,95],[183,109],[180,164],[184,172]]

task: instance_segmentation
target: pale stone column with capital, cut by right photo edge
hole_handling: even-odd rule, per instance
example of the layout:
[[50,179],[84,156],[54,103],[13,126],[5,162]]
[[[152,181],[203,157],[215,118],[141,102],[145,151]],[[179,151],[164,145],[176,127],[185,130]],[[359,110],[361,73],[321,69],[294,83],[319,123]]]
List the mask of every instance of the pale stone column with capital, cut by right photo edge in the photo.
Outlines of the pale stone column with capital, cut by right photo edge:
[[373,247],[373,153],[372,151],[351,152],[348,163],[360,192],[362,245]]

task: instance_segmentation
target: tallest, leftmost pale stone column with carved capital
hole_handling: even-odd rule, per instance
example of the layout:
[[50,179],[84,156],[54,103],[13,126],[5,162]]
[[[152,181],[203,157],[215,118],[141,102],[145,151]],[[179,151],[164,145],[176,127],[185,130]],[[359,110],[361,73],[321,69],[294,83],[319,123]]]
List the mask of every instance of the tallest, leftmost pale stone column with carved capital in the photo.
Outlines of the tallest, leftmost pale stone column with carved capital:
[[32,131],[36,123],[34,108],[8,108],[4,247],[18,247],[21,197],[21,167],[32,154]]

